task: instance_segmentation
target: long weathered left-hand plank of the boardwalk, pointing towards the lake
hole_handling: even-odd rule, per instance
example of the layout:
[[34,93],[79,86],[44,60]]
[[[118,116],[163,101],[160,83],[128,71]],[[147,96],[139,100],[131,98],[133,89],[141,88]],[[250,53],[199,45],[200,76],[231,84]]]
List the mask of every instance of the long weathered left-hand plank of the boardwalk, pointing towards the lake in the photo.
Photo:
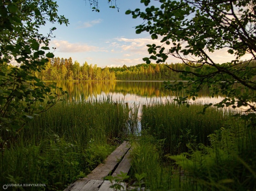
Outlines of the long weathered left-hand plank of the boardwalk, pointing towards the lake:
[[123,144],[117,147],[117,149],[107,157],[104,164],[99,164],[94,170],[92,170],[87,178],[93,180],[102,180],[115,168],[119,160],[124,156],[128,149],[128,142],[124,141]]

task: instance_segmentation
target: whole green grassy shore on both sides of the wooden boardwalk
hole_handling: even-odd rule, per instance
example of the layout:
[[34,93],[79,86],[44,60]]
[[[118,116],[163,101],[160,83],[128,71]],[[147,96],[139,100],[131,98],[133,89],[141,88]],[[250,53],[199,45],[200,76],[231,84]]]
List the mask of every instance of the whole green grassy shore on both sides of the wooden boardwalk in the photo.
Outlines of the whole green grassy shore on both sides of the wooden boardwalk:
[[0,184],[46,185],[8,190],[63,190],[129,139],[129,181],[136,189],[256,190],[252,123],[225,109],[198,114],[202,105],[154,103],[142,107],[142,131],[130,136],[138,125],[133,107],[111,99],[58,103],[1,151]]

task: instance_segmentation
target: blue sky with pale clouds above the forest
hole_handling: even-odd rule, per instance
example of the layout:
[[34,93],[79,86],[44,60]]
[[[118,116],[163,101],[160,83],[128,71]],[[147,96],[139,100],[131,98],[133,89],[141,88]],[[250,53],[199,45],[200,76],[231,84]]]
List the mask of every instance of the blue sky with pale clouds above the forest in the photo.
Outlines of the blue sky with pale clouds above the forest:
[[[42,28],[43,34],[50,27],[56,27],[55,38],[50,48],[56,48],[54,55],[60,58],[71,57],[82,66],[84,62],[98,67],[133,66],[144,63],[142,58],[149,57],[147,44],[158,44],[148,32],[136,34],[135,27],[143,23],[142,19],[133,19],[126,15],[129,9],[145,10],[140,0],[117,0],[117,9],[109,8],[107,0],[98,0],[100,12],[92,11],[88,0],[57,0],[58,14],[69,19],[69,25],[48,24]],[[151,1],[155,6],[158,1]],[[114,5],[114,4],[113,4]],[[226,51],[211,54],[217,63],[231,61],[233,57]],[[170,57],[168,64],[181,60]]]

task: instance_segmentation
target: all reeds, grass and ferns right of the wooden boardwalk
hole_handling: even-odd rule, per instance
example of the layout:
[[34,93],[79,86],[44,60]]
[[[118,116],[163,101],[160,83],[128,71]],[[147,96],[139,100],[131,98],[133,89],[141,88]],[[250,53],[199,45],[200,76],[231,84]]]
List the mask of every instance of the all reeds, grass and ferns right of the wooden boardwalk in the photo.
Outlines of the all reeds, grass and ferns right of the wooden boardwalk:
[[256,131],[232,112],[156,104],[142,109],[131,176],[149,190],[256,190]]

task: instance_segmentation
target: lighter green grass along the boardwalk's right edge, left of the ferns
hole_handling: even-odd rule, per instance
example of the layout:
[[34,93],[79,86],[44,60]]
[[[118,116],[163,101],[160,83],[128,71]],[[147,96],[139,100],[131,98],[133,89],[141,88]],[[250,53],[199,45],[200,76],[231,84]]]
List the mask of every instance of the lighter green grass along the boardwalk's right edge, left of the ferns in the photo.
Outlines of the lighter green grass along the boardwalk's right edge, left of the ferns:
[[[164,160],[164,139],[157,140],[142,130],[139,137],[131,139],[131,172],[136,190],[190,190],[186,177]],[[188,185],[188,186],[186,186]]]

